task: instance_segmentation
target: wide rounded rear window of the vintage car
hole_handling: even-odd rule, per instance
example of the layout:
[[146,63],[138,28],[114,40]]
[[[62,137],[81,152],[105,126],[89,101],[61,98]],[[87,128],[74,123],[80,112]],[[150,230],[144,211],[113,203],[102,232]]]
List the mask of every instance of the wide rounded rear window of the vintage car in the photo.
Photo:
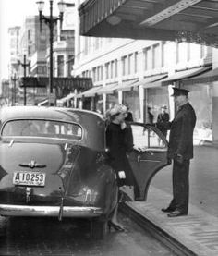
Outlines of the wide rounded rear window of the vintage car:
[[50,137],[81,140],[82,128],[76,123],[23,119],[8,121],[2,129],[2,136]]

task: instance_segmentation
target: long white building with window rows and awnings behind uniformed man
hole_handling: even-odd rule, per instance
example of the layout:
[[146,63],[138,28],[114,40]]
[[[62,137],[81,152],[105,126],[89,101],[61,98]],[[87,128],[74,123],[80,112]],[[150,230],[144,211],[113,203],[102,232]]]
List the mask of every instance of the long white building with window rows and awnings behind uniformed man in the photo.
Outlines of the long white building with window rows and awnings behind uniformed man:
[[[80,2],[78,1],[78,5]],[[91,77],[95,90],[83,93],[90,108],[102,112],[127,103],[135,121],[148,122],[148,107],[156,121],[161,106],[175,115],[172,86],[212,69],[212,47],[169,41],[93,38],[75,34],[74,76]],[[212,140],[212,85],[188,85],[197,112],[195,139]]]

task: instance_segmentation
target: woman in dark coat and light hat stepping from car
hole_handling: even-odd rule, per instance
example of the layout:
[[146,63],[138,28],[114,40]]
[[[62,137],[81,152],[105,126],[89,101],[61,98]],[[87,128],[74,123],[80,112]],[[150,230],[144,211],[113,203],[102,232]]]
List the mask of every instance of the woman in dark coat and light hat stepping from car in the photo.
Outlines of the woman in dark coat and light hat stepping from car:
[[[115,170],[118,187],[126,185],[134,186],[134,189],[137,189],[135,177],[127,160],[127,152],[133,149],[133,140],[132,134],[130,135],[131,129],[125,123],[126,116],[127,107],[124,105],[115,104],[110,110],[111,121],[106,128],[106,145],[108,148],[109,164]],[[130,137],[127,139],[128,136]],[[139,193],[136,196],[139,196]],[[117,231],[123,231],[124,228],[117,221],[118,201],[117,195],[115,212],[108,225],[114,227]]]

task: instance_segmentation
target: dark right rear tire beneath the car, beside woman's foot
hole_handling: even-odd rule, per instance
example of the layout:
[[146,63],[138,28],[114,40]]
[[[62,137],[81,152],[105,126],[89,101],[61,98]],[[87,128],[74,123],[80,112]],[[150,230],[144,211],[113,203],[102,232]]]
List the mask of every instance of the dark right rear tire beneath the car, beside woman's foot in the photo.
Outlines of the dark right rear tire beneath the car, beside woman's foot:
[[107,221],[91,220],[91,238],[103,239],[107,231]]

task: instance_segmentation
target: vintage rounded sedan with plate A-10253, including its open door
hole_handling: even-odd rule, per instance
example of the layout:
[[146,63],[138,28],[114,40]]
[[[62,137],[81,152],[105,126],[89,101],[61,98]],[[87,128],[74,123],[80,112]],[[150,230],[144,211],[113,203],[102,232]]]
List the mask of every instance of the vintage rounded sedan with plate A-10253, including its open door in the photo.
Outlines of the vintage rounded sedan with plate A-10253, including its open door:
[[[145,201],[151,178],[167,165],[167,142],[132,123],[138,150],[128,159]],[[0,110],[0,215],[91,220],[102,238],[116,203],[103,116],[85,110],[14,106]],[[134,198],[133,198],[134,200]]]

